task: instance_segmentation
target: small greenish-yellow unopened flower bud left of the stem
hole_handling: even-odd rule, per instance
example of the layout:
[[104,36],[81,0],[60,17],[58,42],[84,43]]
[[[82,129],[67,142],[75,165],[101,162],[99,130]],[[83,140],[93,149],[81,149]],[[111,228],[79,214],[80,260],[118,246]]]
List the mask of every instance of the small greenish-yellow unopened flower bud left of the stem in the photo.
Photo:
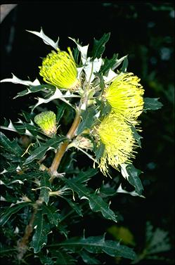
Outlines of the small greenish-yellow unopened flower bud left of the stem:
[[56,134],[56,115],[53,111],[44,111],[34,117],[34,122],[47,136]]

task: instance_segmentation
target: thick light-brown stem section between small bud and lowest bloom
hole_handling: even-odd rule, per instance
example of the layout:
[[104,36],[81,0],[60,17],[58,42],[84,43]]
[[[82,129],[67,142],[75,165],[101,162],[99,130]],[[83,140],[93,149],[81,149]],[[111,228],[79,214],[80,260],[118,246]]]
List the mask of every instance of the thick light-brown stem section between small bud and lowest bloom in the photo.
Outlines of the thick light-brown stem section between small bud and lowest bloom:
[[[70,130],[67,132],[67,138],[69,140],[71,140],[74,135],[75,135],[75,132],[77,130],[77,127],[79,126],[79,122],[81,120],[81,117],[79,115],[79,112],[77,112],[75,118],[74,118],[74,122],[72,123],[72,126],[70,127]],[[64,143],[61,143],[60,144],[60,148],[58,148],[57,152],[56,152],[56,155],[53,159],[53,162],[51,164],[51,167],[49,169],[49,172],[51,174],[51,179],[50,181],[53,181],[54,179],[54,174],[57,172],[57,169],[59,167],[59,164],[60,164],[60,160],[62,159],[66,149],[67,149],[67,146],[69,144],[69,141],[65,141]]]

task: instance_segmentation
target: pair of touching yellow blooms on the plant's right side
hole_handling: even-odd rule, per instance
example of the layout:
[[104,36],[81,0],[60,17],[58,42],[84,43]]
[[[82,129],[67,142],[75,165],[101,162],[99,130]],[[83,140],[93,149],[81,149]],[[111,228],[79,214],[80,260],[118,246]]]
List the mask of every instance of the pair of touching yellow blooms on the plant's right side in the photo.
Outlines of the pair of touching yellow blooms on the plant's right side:
[[111,106],[110,113],[103,119],[97,131],[105,145],[99,167],[108,173],[108,164],[115,169],[130,163],[138,145],[131,126],[143,111],[143,87],[140,79],[132,73],[122,73],[105,89],[105,98]]

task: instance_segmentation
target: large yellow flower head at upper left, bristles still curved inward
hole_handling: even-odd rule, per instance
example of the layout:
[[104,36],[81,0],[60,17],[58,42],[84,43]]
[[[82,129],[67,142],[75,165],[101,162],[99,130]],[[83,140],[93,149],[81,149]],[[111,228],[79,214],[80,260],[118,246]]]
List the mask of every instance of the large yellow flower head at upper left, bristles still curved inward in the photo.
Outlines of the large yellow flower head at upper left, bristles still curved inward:
[[60,89],[76,90],[79,87],[77,79],[77,67],[72,56],[70,48],[66,51],[51,51],[44,58],[39,67],[39,75],[43,77],[48,84],[53,84]]

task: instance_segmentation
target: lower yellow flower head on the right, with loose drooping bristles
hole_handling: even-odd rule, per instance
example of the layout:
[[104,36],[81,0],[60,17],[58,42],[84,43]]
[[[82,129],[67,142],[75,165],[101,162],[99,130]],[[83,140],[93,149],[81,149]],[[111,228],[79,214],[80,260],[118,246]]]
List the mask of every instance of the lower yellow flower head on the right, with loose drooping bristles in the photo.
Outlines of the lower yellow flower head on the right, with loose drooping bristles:
[[131,158],[136,153],[134,152],[136,141],[131,127],[124,122],[124,119],[117,116],[115,112],[110,112],[97,130],[101,142],[105,145],[99,164],[103,174],[108,173],[108,164],[118,169],[120,164],[131,162]]

